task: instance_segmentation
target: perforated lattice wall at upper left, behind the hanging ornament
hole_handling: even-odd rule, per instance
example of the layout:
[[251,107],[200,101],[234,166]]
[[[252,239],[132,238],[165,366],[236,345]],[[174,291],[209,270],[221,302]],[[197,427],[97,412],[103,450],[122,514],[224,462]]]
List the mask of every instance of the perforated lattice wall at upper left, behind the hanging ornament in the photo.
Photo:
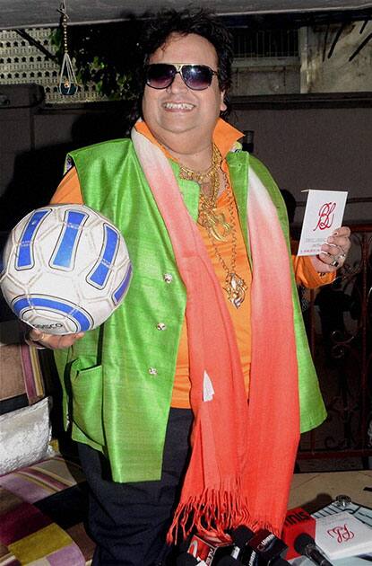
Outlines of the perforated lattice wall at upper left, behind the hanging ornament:
[[[32,28],[26,31],[50,53],[56,53],[56,47],[50,40],[50,28]],[[58,78],[59,66],[38,48],[30,45],[16,31],[0,31],[0,84],[40,84],[44,88],[46,102],[49,103],[105,100],[96,92],[94,84],[79,86],[74,96],[63,96],[58,93]]]

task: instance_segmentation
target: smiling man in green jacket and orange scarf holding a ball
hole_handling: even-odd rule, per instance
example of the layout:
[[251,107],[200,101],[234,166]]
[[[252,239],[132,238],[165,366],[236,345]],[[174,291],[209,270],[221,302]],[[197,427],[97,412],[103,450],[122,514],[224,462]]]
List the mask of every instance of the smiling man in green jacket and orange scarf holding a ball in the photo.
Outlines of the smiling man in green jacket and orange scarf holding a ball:
[[[284,204],[219,119],[229,34],[205,13],[170,12],[142,43],[133,141],[73,152],[53,199],[83,201],[122,231],[134,265],[125,304],[83,337],[29,335],[58,349],[91,487],[93,564],[158,564],[178,529],[279,534],[300,424],[325,416]],[[340,228],[319,257],[294,259],[297,280],[332,280],[349,234]]]

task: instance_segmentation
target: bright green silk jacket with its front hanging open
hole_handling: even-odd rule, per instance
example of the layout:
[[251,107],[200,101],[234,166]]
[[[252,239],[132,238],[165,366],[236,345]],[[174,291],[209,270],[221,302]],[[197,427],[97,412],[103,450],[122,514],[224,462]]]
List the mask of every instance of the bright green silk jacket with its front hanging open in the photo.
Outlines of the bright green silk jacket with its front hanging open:
[[[124,235],[133,279],[124,303],[106,323],[87,332],[72,348],[55,353],[64,391],[65,424],[71,425],[75,440],[107,455],[115,482],[158,480],[186,288],[132,141],[104,142],[76,150],[71,157],[84,203],[110,218]],[[286,208],[273,178],[246,152],[229,153],[227,161],[248,257],[247,179],[252,167],[278,210],[292,271]],[[171,165],[186,207],[196,220],[199,187],[194,181],[179,179],[177,164]],[[325,409],[294,276],[292,286],[303,432],[324,420]],[[160,323],[165,324],[164,330]]]

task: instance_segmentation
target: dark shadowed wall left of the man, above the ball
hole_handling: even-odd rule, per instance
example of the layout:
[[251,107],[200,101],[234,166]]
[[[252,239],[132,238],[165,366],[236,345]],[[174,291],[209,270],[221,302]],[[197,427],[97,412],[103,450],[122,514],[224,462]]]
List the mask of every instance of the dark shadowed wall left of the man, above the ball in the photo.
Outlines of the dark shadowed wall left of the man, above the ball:
[[123,137],[125,132],[120,103],[48,109],[32,105],[26,87],[1,87],[10,102],[0,109],[0,232],[48,202],[63,175],[68,151]]

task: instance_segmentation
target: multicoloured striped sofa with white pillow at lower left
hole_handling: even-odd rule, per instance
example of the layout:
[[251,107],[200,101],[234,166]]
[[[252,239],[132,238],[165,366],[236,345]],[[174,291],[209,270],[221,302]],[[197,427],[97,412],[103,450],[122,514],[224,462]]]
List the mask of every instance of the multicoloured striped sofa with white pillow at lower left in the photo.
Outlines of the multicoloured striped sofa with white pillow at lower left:
[[0,566],[90,564],[82,469],[49,441],[38,353],[13,320],[0,323],[0,368]]

